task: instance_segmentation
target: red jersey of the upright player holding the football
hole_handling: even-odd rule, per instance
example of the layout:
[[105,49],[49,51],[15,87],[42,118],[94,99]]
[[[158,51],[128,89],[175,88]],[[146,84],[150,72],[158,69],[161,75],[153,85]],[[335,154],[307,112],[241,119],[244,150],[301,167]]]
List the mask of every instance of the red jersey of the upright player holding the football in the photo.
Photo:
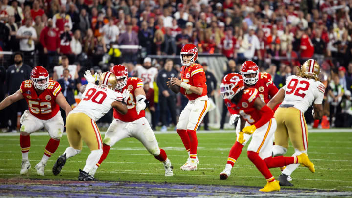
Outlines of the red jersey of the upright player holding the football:
[[180,92],[183,95],[185,95],[188,98],[188,100],[195,100],[199,97],[202,97],[208,94],[208,87],[205,84],[206,77],[205,77],[203,66],[197,63],[194,63],[190,66],[182,66],[180,72],[181,72],[182,82],[190,84],[191,86],[203,88],[202,94],[198,95],[190,91],[187,91],[181,87]]

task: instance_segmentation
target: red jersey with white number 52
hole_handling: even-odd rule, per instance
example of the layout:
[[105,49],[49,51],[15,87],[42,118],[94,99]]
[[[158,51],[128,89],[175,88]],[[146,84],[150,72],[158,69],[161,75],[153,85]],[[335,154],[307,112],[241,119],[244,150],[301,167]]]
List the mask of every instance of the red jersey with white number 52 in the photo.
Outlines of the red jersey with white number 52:
[[32,80],[26,80],[21,83],[20,91],[28,103],[30,113],[38,119],[48,120],[58,113],[60,107],[55,101],[61,92],[58,82],[49,80],[49,86],[38,95]]

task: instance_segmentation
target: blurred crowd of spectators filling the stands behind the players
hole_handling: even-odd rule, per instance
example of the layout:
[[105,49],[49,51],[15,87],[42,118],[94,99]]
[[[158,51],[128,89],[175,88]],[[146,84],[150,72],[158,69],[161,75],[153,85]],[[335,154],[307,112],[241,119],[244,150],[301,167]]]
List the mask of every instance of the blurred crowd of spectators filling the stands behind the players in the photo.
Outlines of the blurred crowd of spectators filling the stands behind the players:
[[[13,53],[0,54],[0,100],[18,89],[17,81],[29,78],[29,67],[42,65],[54,80],[62,79],[64,95],[74,105],[73,93],[86,83],[86,69],[104,72],[123,63],[135,76],[140,66],[164,69],[165,57],[171,55],[173,69],[179,71],[180,49],[193,43],[199,53],[226,56],[228,71],[255,61],[278,88],[305,60],[317,60],[327,88],[324,123],[351,127],[351,17],[352,0],[2,0],[0,50]],[[159,97],[172,94],[159,92],[157,76],[143,79],[151,82],[145,89],[153,91],[153,128],[160,119]],[[219,82],[212,84],[210,96],[217,94]],[[174,98],[179,112],[182,96]],[[23,108],[17,104],[8,112]],[[0,128],[16,130],[3,116]],[[17,114],[13,117],[12,123]],[[169,117],[162,129],[175,122]]]

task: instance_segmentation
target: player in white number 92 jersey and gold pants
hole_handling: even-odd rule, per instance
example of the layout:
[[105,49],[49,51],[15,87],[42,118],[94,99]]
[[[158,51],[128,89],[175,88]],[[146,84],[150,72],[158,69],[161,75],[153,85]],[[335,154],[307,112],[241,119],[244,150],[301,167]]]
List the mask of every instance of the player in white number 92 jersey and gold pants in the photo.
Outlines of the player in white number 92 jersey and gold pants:
[[[307,154],[308,130],[303,114],[313,104],[314,119],[322,117],[325,87],[319,81],[319,73],[319,64],[315,60],[309,59],[301,66],[297,76],[292,75],[287,78],[286,85],[268,103],[269,107],[275,107],[282,102],[275,112],[278,126],[275,132],[274,156],[281,156],[287,152],[288,138],[295,148],[295,153],[292,156]],[[280,185],[293,186],[287,177],[297,167],[296,164],[286,167],[279,176]]]

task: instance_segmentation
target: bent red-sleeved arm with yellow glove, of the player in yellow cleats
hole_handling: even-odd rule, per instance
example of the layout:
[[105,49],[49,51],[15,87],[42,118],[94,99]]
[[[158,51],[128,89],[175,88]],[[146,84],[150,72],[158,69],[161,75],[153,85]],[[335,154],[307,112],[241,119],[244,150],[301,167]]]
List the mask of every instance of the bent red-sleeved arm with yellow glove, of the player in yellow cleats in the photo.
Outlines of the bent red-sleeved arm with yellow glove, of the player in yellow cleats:
[[246,134],[253,134],[253,132],[257,128],[262,127],[264,124],[269,122],[270,119],[274,116],[274,111],[271,110],[267,105],[265,105],[265,103],[259,97],[255,99],[254,107],[259,110],[262,116],[254,125],[243,128],[243,132]]

